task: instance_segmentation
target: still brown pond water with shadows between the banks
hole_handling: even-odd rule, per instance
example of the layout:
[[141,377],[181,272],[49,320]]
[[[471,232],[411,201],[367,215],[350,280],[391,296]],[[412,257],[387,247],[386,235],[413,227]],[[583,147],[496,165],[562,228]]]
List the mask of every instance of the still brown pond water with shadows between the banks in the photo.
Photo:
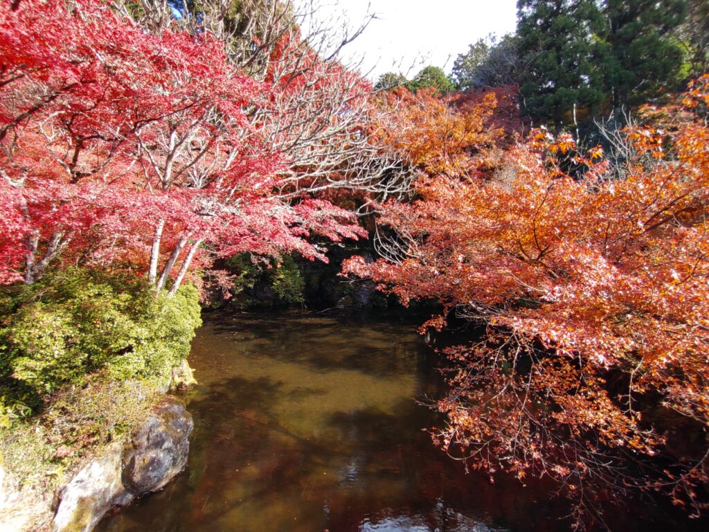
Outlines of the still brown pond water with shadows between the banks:
[[[296,311],[208,317],[190,355],[187,469],[97,530],[568,530],[549,487],[492,484],[432,446],[425,429],[441,420],[415,399],[442,381],[415,328]],[[645,529],[685,529],[640,508]],[[636,529],[633,514],[614,517],[619,530]]]

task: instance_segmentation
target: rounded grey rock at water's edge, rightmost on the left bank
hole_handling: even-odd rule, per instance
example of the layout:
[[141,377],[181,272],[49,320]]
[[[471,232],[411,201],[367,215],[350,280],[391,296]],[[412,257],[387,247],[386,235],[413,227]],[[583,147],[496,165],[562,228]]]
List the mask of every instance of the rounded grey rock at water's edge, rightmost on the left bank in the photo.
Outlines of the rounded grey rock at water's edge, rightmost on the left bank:
[[123,485],[136,496],[162,489],[184,470],[193,426],[177,399],[158,406],[125,450]]

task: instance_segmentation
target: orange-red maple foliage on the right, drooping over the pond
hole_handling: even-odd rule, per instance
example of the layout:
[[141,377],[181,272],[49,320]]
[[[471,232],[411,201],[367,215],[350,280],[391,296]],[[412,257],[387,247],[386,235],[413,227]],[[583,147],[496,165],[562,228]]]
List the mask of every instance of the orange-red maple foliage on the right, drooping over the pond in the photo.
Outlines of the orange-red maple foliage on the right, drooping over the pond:
[[[686,101],[703,104],[696,87],[707,84]],[[624,179],[600,148],[580,155],[543,131],[510,150],[506,182],[428,162],[438,172],[418,182],[420,200],[389,204],[382,220],[398,260],[345,265],[404,304],[438,299],[487,324],[481,343],[447,350],[458,369],[437,403],[448,419],[437,443],[490,473],[556,478],[579,523],[601,494],[632,488],[705,506],[694,487],[709,452],[669,458],[666,420],[709,429],[709,128],[627,135],[639,155]],[[638,465],[657,455],[664,472]]]

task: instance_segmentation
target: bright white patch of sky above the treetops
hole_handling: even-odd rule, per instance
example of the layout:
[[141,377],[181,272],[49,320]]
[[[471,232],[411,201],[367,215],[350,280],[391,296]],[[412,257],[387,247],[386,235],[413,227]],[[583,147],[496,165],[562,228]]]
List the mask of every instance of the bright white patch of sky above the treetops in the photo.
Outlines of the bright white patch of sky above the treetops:
[[[426,65],[450,72],[459,53],[481,37],[515,29],[515,0],[295,0],[320,4],[317,18],[343,16],[359,26],[367,14],[377,18],[342,57],[362,59],[360,70],[372,80],[384,72],[413,77]],[[308,23],[304,23],[305,28]],[[370,72],[371,71],[371,72]]]

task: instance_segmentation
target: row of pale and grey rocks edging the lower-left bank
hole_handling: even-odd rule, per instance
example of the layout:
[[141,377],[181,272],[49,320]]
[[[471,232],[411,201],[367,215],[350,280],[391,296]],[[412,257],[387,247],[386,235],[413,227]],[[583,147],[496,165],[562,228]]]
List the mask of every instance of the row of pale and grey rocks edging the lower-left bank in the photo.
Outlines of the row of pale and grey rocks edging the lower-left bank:
[[89,532],[109,510],[162,489],[184,470],[192,416],[167,397],[138,431],[91,458],[54,494],[21,489],[0,467],[0,529]]

